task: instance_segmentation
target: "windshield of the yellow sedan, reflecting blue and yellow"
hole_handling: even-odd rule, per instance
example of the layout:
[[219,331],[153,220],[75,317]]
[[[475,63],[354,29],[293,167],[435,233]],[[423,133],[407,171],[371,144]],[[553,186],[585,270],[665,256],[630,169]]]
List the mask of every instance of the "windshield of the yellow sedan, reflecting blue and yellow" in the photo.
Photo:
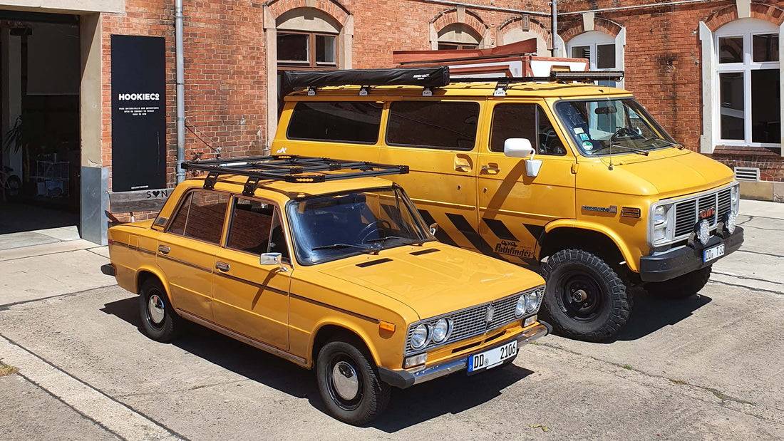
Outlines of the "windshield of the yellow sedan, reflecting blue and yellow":
[[286,210],[303,265],[434,240],[399,188],[310,197]]

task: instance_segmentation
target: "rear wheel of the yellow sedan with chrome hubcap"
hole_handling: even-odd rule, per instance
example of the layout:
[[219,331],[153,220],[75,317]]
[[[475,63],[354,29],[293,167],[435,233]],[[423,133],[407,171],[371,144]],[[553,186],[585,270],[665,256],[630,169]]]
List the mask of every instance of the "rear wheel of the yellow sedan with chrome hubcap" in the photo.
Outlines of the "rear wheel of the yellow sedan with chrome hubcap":
[[172,308],[169,297],[158,279],[147,279],[139,290],[142,327],[157,342],[171,342],[180,336],[182,319]]

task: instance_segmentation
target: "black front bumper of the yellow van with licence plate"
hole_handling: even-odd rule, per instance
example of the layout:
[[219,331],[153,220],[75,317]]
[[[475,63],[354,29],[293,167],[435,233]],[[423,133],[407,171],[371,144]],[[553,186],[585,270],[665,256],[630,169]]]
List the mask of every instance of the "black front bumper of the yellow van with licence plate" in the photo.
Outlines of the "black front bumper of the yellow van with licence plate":
[[735,232],[728,237],[712,236],[702,248],[691,248],[688,245],[664,251],[655,255],[644,255],[640,258],[640,278],[644,282],[663,282],[691,273],[697,269],[713,265],[717,259],[702,262],[702,252],[718,244],[724,244],[724,255],[740,248],[743,243],[743,229],[735,227]]

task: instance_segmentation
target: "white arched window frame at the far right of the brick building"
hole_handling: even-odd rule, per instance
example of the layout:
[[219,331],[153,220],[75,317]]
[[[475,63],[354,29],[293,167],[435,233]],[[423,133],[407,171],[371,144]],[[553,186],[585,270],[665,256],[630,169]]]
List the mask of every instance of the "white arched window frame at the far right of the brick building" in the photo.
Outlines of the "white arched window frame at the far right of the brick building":
[[[753,36],[760,34],[779,35],[779,52],[781,51],[782,39],[779,27],[773,23],[757,19],[735,20],[713,32],[713,56],[715,56],[715,74],[713,75],[713,89],[716,91],[714,96],[715,108],[713,110],[713,137],[717,143],[726,146],[757,146],[757,147],[780,147],[781,143],[753,143],[752,142],[752,115],[751,115],[751,73],[753,70],[779,69],[779,82],[781,78],[781,63],[779,61],[754,62],[753,61]],[[742,63],[720,63],[719,58],[719,38],[742,37],[743,38],[743,60]],[[743,139],[723,139],[721,138],[721,83],[720,74],[742,73],[743,74]]]

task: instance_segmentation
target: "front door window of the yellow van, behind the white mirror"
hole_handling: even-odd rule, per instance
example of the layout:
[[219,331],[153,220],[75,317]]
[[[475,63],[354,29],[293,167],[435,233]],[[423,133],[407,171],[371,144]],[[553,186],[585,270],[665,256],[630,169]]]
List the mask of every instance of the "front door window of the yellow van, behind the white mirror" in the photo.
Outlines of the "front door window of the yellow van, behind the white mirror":
[[550,118],[538,104],[499,104],[492,112],[490,150],[503,152],[509,138],[526,138],[536,154],[563,156],[564,144],[558,137]]

